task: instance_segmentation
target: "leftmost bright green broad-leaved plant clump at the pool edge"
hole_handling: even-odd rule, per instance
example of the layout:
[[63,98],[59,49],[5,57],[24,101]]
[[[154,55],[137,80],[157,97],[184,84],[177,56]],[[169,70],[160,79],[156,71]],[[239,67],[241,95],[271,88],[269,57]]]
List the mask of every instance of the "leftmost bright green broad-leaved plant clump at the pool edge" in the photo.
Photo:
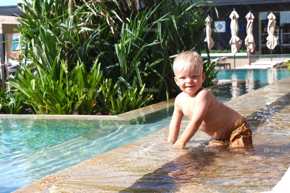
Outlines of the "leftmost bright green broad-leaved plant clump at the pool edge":
[[[37,114],[72,114],[83,103],[85,94],[79,96],[81,93],[74,80],[79,68],[84,68],[79,65],[72,71],[67,72],[65,62],[62,60],[60,66],[59,80],[53,79],[53,69],[51,73],[36,65],[36,75],[32,73],[26,66],[23,66],[22,72],[18,73],[15,79],[9,79],[10,84],[21,90],[31,100],[31,107]],[[63,74],[66,74],[63,78]]]

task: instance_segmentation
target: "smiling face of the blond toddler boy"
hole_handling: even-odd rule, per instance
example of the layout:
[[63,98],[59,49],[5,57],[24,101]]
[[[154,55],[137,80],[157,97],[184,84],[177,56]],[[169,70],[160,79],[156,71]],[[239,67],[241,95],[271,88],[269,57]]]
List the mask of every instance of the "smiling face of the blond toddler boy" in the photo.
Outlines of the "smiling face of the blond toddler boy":
[[205,81],[205,73],[201,69],[176,72],[175,75],[174,81],[177,86],[189,96],[194,96],[201,88],[202,82]]

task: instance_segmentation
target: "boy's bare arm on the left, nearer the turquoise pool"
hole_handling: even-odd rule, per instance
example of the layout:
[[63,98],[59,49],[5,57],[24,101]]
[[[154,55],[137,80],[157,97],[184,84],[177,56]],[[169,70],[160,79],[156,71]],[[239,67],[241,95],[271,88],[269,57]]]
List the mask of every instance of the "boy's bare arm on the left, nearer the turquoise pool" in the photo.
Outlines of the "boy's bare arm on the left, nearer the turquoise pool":
[[178,138],[178,134],[179,134],[180,123],[183,117],[182,111],[177,106],[177,100],[178,100],[178,96],[175,99],[174,112],[173,112],[170,125],[169,125],[169,133],[168,133],[168,139],[167,139],[169,143],[176,142]]

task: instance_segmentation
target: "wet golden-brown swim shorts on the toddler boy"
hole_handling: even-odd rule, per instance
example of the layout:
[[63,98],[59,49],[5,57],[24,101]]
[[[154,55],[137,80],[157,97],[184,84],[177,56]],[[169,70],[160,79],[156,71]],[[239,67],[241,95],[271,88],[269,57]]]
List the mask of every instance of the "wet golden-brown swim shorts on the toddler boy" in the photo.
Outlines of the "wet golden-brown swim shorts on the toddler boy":
[[228,144],[230,147],[244,147],[253,145],[252,129],[245,117],[241,116],[217,140]]

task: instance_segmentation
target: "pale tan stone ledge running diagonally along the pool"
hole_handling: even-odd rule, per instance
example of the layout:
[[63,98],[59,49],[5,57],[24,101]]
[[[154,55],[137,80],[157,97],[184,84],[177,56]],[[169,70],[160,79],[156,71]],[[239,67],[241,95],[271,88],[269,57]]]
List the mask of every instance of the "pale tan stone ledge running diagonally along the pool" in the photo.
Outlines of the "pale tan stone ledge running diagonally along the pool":
[[[290,93],[290,77],[246,93],[225,104],[247,117],[288,93]],[[182,121],[180,133],[187,124],[188,119]],[[155,171],[190,151],[190,148],[169,151],[165,148],[167,144],[157,142],[159,139],[167,138],[168,128],[165,127],[129,144],[45,176],[14,193],[118,192],[124,190],[145,174]],[[194,141],[195,139],[192,139],[191,144]],[[156,159],[156,157],[163,159]]]

